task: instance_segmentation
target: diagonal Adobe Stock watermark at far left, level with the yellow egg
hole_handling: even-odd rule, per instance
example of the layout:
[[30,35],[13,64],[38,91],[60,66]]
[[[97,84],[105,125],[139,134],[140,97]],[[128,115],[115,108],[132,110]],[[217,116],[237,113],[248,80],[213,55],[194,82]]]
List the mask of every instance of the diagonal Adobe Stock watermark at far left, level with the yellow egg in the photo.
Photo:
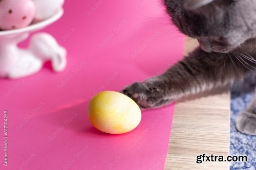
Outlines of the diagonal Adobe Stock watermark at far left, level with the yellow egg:
[[30,114],[28,116],[24,117],[23,120],[19,122],[19,124],[16,126],[16,130],[19,131],[20,129],[22,129],[30,121],[30,119],[38,114],[42,109],[44,109],[45,106],[46,102],[41,101],[35,108],[30,111]]

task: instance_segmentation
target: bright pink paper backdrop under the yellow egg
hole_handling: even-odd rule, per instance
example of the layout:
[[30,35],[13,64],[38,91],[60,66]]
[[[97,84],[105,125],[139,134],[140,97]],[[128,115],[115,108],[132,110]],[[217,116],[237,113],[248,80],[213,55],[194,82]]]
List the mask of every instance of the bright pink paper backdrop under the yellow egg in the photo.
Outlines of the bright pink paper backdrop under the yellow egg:
[[1,131],[9,113],[9,164],[1,140],[1,169],[163,169],[174,105],[143,111],[141,124],[122,135],[94,129],[87,105],[99,91],[163,72],[182,58],[184,37],[158,0],[77,0],[64,8],[44,31],[67,48],[67,69],[54,74],[48,63],[34,76],[0,80]]

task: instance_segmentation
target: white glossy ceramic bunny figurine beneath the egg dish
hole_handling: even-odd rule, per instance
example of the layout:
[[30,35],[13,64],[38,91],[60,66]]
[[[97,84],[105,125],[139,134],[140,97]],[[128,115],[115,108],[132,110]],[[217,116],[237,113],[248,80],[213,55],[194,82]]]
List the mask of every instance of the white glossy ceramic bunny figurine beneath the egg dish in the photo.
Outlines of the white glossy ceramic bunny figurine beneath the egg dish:
[[0,36],[0,77],[16,79],[39,71],[46,61],[51,61],[54,71],[66,67],[66,50],[47,33],[32,36],[29,48],[18,48],[16,43],[27,39],[29,34]]

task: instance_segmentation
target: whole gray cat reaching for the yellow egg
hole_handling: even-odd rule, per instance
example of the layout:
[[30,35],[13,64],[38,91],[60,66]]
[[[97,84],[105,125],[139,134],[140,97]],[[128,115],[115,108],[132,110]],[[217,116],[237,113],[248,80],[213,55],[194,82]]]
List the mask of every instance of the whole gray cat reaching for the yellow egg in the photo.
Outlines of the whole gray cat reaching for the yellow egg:
[[[121,92],[141,108],[166,105],[189,94],[230,86],[256,66],[256,0],[165,0],[178,29],[200,44],[164,74]],[[256,95],[236,119],[237,129],[256,135]]]

